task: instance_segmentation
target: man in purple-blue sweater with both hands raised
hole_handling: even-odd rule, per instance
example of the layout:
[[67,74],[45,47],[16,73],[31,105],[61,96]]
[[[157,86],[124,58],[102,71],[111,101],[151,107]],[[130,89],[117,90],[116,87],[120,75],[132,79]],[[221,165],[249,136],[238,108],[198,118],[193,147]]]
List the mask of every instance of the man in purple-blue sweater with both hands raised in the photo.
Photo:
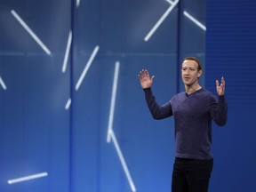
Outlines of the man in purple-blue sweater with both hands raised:
[[212,120],[226,124],[228,106],[224,97],[225,80],[216,80],[219,100],[198,83],[202,66],[195,57],[182,62],[181,76],[185,92],[176,94],[166,104],[157,104],[151,90],[154,77],[141,70],[139,80],[154,119],[174,117],[176,158],[172,171],[172,192],[207,192],[212,173]]

